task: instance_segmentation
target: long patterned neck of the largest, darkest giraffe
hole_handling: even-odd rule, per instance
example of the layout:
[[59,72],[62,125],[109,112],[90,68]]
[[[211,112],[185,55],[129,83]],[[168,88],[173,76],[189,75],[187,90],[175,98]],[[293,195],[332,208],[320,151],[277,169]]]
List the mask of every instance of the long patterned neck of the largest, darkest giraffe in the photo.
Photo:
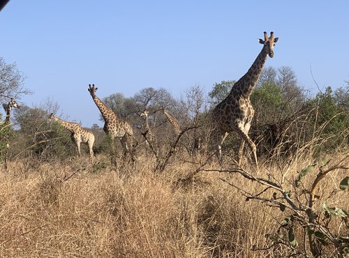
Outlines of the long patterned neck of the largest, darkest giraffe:
[[251,96],[252,90],[260,77],[260,73],[262,73],[265,61],[267,61],[267,56],[267,47],[263,47],[252,66],[248,69],[247,73],[232,87],[232,91],[230,91],[232,96],[235,98],[237,96],[243,96],[245,98],[249,98]]

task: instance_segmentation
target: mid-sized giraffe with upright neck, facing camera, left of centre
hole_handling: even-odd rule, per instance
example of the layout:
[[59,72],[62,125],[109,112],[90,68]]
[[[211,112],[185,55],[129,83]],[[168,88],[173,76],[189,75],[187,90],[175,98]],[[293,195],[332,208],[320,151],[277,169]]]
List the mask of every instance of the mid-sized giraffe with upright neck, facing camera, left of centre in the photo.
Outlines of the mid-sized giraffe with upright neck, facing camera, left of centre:
[[128,122],[119,119],[117,114],[115,114],[112,109],[107,107],[107,105],[105,105],[102,100],[96,96],[97,89],[98,87],[94,86],[94,84],[89,84],[89,88],[87,90],[91,94],[94,103],[98,107],[105,121],[103,130],[111,138],[112,159],[114,159],[116,164],[116,159],[114,157],[114,138],[117,137],[120,139],[125,155],[126,153],[130,152],[130,148],[132,146],[131,140],[133,139],[133,129]]

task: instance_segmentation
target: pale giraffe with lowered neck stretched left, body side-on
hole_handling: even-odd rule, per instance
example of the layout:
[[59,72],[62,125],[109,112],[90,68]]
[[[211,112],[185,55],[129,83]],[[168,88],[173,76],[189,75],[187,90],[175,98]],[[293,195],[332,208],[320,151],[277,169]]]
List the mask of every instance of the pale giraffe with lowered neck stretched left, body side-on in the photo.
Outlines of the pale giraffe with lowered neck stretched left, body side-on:
[[81,149],[80,144],[86,143],[89,146],[89,155],[91,160],[94,160],[94,133],[90,130],[87,130],[85,128],[82,128],[79,123],[73,123],[64,121],[63,119],[59,119],[57,116],[55,116],[53,113],[50,114],[48,117],[49,121],[56,121],[61,126],[63,126],[66,130],[71,132],[71,139],[73,139],[73,142],[75,143],[77,153],[81,155]]

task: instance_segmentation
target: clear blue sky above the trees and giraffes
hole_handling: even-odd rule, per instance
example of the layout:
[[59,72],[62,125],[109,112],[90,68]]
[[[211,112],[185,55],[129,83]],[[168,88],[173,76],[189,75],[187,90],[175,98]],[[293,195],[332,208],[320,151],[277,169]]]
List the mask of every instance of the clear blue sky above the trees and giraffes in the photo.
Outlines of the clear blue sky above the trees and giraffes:
[[290,66],[317,92],[349,80],[349,1],[50,1],[10,0],[0,13],[0,56],[17,63],[34,91],[71,121],[90,127],[100,98],[163,87],[180,96],[239,79],[253,63],[263,31],[279,37],[266,66]]

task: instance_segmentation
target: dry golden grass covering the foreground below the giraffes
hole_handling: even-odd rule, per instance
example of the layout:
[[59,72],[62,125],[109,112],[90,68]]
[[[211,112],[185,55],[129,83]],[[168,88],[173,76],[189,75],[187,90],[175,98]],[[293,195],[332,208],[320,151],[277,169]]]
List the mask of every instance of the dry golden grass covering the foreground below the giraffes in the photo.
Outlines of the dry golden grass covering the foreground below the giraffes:
[[[341,158],[337,155],[336,159]],[[246,202],[232,181],[251,192],[262,190],[238,174],[198,172],[197,166],[172,162],[154,174],[149,158],[134,168],[114,171],[100,156],[38,164],[10,162],[0,172],[0,257],[282,257],[269,245],[285,217],[278,208]],[[287,177],[297,177],[313,160],[298,160]],[[219,168],[218,165],[212,167]],[[287,169],[266,165],[260,174],[279,179]],[[339,169],[322,181],[318,195],[327,199],[348,171]],[[316,172],[306,176],[310,184]],[[272,192],[265,192],[272,195]],[[333,206],[348,210],[348,191],[338,192]],[[315,208],[320,208],[319,202]],[[340,228],[334,223],[333,227]],[[339,229],[343,230],[343,229]]]

